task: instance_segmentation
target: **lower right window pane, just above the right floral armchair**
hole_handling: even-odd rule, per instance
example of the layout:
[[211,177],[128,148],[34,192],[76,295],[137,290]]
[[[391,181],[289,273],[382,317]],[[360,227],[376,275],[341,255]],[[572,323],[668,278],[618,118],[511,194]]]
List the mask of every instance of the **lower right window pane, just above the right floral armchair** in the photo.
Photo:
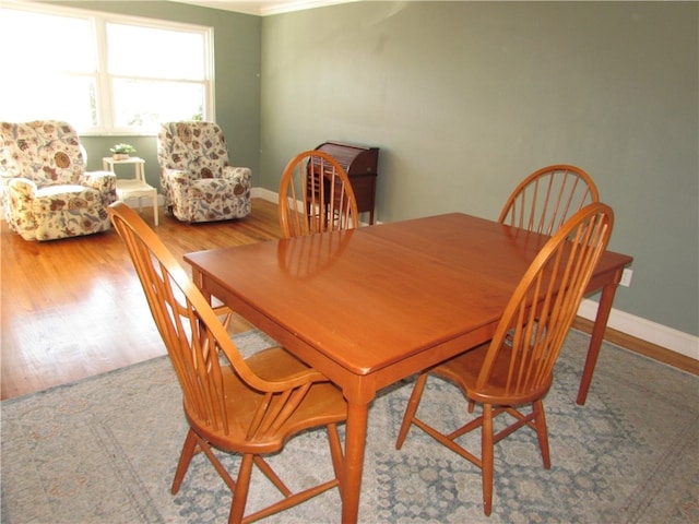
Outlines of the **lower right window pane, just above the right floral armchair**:
[[203,84],[115,80],[112,85],[117,128],[155,131],[161,122],[203,118]]

